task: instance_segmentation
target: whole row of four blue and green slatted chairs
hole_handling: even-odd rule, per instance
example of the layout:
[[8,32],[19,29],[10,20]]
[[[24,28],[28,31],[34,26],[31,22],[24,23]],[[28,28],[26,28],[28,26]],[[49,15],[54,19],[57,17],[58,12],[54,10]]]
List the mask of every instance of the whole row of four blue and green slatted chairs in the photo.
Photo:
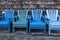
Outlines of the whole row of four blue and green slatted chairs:
[[[42,9],[31,10],[32,15],[28,15],[28,10],[17,10],[17,15],[15,15],[15,10],[5,9],[3,11],[4,15],[0,21],[0,28],[8,28],[10,32],[10,23],[12,23],[12,31],[15,31],[15,28],[26,28],[26,32],[31,33],[31,29],[43,29],[44,35],[46,34],[46,24],[48,27],[48,34],[50,35],[51,30],[60,29],[60,21],[57,9],[47,9],[46,14],[42,15]],[[29,23],[28,23],[29,19]],[[28,30],[29,24],[29,30]]]

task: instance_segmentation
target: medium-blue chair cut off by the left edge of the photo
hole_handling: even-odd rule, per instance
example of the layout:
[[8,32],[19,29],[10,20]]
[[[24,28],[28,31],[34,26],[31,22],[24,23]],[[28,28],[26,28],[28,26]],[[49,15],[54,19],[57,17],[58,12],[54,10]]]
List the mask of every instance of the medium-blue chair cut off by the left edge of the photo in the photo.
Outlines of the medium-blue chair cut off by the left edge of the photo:
[[0,21],[0,28],[8,28],[8,32],[10,32],[10,21],[12,21],[12,16],[14,13],[14,10],[12,9],[5,9],[4,11],[4,17],[2,16],[3,20]]

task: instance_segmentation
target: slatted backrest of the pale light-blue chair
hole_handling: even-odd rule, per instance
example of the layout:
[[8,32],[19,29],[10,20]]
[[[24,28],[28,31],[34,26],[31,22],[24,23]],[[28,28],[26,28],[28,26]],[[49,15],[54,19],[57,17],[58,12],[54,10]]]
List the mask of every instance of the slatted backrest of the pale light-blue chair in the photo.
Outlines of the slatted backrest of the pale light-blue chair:
[[50,21],[57,21],[57,17],[58,17],[58,10],[55,9],[47,9],[47,17],[50,19]]

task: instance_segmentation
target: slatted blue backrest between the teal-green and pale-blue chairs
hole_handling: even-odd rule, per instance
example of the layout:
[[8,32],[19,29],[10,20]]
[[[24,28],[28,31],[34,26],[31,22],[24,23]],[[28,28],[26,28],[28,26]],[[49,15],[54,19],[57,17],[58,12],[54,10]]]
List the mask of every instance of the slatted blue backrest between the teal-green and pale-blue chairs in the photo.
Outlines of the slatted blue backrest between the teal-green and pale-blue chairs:
[[32,10],[33,20],[37,20],[37,21],[41,20],[42,12],[43,12],[43,10],[40,10],[40,9]]

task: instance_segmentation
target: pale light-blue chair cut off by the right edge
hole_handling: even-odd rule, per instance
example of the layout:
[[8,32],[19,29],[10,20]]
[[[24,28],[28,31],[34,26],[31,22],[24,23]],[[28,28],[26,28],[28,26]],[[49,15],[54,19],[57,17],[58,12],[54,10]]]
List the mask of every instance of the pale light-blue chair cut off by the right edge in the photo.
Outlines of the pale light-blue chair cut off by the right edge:
[[58,10],[47,9],[47,17],[49,19],[48,34],[51,35],[51,30],[60,30],[60,21],[58,20]]

